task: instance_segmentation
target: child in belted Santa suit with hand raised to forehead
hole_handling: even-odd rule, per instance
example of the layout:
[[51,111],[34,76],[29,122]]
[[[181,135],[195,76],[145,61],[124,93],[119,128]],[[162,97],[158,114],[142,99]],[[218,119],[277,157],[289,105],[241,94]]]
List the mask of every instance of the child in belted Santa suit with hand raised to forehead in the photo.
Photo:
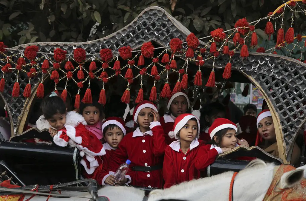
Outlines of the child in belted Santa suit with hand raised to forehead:
[[[162,160],[167,144],[157,108],[144,100],[134,109],[133,120],[139,127],[122,139],[109,162],[110,169],[115,172],[129,159],[132,163],[126,175],[131,177],[131,185],[162,188]],[[124,178],[118,184],[126,182],[129,181]]]

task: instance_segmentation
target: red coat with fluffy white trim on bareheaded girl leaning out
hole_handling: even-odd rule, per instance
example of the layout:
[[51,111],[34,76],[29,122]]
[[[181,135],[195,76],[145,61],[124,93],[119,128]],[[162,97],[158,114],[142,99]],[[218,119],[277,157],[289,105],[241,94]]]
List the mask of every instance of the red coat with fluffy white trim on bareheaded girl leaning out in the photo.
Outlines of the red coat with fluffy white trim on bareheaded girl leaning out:
[[[36,125],[39,130],[51,127],[43,115],[36,121]],[[102,169],[102,160],[99,156],[105,155],[106,152],[98,138],[87,130],[85,125],[86,122],[82,115],[70,111],[66,115],[65,126],[58,130],[58,133],[53,137],[53,141],[61,147],[69,145],[78,148],[82,157],[80,163],[86,171],[84,177],[93,178],[92,176],[95,175],[95,171],[98,171],[98,167],[101,166],[100,169]]]

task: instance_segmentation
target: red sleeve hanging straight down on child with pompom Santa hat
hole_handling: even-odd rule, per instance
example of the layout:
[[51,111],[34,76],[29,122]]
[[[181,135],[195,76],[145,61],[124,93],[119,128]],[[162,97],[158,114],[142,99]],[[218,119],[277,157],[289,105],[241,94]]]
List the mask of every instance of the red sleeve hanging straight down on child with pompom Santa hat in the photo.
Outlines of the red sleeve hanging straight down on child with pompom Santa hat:
[[169,188],[176,184],[175,182],[175,170],[173,165],[173,158],[171,157],[171,147],[168,146],[165,149],[164,163],[162,166],[162,175],[165,180],[164,188]]

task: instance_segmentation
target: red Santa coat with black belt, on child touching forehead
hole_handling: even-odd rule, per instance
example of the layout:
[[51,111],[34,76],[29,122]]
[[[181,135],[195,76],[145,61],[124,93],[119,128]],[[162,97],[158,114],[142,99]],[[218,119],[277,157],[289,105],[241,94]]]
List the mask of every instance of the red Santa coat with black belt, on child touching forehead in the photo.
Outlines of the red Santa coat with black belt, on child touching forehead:
[[139,127],[128,133],[120,142],[113,155],[109,167],[115,172],[127,159],[131,161],[127,176],[130,176],[131,185],[140,187],[162,188],[164,181],[162,169],[150,172],[131,170],[133,166],[162,165],[164,151],[167,146],[164,130],[159,122],[151,122],[151,130],[141,133]]

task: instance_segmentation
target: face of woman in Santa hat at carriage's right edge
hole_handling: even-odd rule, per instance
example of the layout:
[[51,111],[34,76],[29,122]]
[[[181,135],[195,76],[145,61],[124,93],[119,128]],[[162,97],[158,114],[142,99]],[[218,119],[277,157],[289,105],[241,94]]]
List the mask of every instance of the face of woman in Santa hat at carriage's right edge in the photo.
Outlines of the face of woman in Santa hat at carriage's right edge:
[[258,123],[258,132],[259,132],[259,135],[264,140],[276,142],[275,128],[274,128],[273,119],[271,116],[263,118]]

